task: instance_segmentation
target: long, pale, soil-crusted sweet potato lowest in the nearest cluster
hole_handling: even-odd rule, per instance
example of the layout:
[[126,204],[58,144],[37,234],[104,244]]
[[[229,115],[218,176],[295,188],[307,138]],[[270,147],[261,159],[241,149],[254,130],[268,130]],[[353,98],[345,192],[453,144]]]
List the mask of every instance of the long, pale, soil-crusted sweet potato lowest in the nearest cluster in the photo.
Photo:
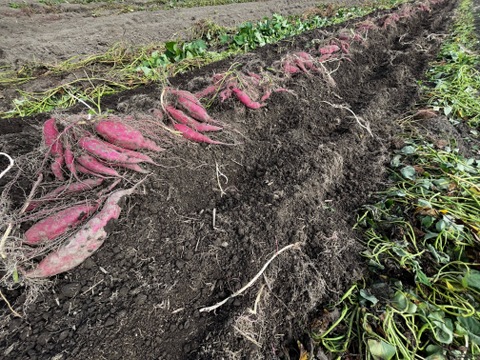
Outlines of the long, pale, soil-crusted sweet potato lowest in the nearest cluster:
[[105,227],[111,220],[118,219],[120,216],[119,201],[133,191],[134,188],[117,190],[111,194],[97,215],[72,235],[65,245],[48,254],[35,268],[28,271],[25,277],[46,278],[80,265],[103,244],[107,238]]

